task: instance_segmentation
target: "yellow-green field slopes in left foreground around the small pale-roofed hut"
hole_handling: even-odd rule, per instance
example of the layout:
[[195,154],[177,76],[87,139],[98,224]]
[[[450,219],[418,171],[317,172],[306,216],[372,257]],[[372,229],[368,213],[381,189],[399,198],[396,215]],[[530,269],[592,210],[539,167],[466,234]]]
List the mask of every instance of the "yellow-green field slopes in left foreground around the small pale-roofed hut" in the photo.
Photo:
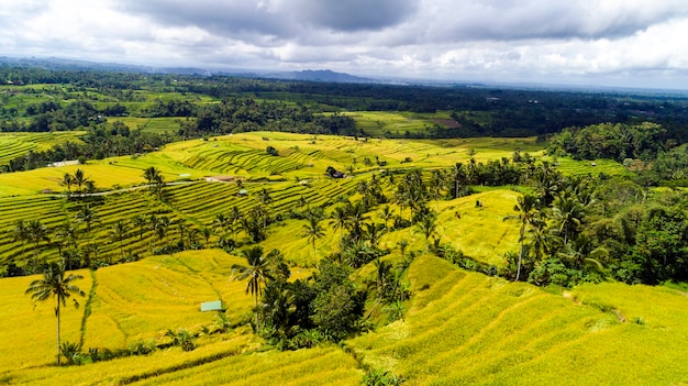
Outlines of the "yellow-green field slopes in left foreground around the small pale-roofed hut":
[[[226,306],[230,320],[237,322],[253,307],[252,297],[244,290],[245,283],[230,279],[232,264],[243,262],[222,251],[207,250],[97,271],[96,296],[90,302],[84,346],[116,350],[140,340],[165,342],[167,329],[199,332],[207,326],[212,330],[214,315],[199,312],[199,306],[201,301],[218,298]],[[88,291],[90,276],[88,272],[82,274],[85,280],[77,284]],[[308,272],[301,269],[295,272],[293,277],[306,275]],[[3,309],[1,334],[4,341],[16,343],[0,349],[0,378],[5,382],[91,385],[141,378],[152,384],[206,384],[214,379],[215,384],[244,385],[263,378],[268,383],[280,379],[279,384],[289,381],[293,385],[314,384],[319,379],[354,385],[360,379],[354,359],[336,348],[286,354],[258,353],[254,352],[257,341],[245,328],[228,334],[202,335],[197,341],[199,348],[189,353],[170,348],[147,356],[66,368],[45,367],[54,357],[55,319],[48,305],[32,308],[31,300],[23,296],[24,288],[34,278],[0,280],[0,289],[10,306]],[[65,311],[63,340],[78,341],[84,312],[85,309]],[[20,341],[14,337],[20,337]],[[186,367],[191,368],[179,371]],[[170,374],[145,381],[166,373]]]

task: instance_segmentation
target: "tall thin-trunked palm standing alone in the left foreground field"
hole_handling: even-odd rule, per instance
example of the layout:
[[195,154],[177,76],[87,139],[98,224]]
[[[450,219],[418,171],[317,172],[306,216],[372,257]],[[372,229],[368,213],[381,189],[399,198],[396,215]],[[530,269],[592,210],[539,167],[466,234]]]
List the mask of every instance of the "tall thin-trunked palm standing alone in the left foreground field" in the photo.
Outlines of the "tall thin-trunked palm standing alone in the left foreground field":
[[[67,306],[67,299],[71,295],[86,296],[79,287],[71,284],[84,276],[69,274],[65,277],[65,266],[57,263],[51,263],[43,273],[43,278],[31,282],[25,294],[36,301],[45,301],[49,298],[55,299],[55,317],[57,318],[57,365],[59,365],[59,311],[60,307]],[[74,299],[74,306],[79,307],[77,299]]]

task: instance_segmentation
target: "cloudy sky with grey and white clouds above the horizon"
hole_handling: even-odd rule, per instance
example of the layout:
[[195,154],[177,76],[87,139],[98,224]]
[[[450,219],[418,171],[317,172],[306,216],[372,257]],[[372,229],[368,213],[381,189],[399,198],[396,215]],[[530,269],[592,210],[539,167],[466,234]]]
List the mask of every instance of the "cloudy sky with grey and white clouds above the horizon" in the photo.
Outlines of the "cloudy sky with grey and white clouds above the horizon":
[[688,1],[0,0],[0,55],[688,89]]

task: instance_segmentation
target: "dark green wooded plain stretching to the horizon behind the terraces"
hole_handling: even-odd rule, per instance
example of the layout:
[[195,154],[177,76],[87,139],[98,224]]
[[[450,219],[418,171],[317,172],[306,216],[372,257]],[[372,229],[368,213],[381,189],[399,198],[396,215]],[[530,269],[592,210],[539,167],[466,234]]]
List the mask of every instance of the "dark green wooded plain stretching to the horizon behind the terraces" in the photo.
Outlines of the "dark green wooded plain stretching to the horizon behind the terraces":
[[[0,86],[0,131],[92,128],[97,136],[102,136],[101,131],[113,133],[106,141],[89,141],[103,150],[81,151],[80,155],[87,158],[142,151],[143,145],[122,139],[135,129],[116,124],[127,117],[176,118],[176,139],[255,130],[366,135],[351,117],[337,113],[344,111],[447,112],[431,119],[434,123],[422,131],[386,131],[387,136],[526,136],[603,122],[623,124],[606,130],[621,129],[621,134],[625,134],[626,125],[643,120],[662,124],[667,137],[683,142],[688,128],[685,99],[651,93],[320,84],[10,65],[0,65],[0,79],[5,79]],[[106,120],[115,124],[106,125]],[[157,147],[147,142],[149,147]],[[608,151],[615,157],[624,152],[631,156],[637,150],[612,147]],[[581,157],[592,156],[590,151],[576,150]],[[57,153],[45,158],[63,161],[63,154]],[[74,156],[74,152],[64,156]],[[19,167],[20,162],[14,164]]]

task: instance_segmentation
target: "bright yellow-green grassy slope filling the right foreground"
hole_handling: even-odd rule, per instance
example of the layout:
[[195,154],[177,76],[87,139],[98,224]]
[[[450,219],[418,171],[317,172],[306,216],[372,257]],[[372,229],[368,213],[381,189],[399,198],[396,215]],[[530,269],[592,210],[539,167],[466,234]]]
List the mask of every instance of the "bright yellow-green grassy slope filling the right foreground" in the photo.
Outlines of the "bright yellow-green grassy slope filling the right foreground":
[[[428,256],[413,263],[409,277],[415,297],[406,321],[351,343],[369,365],[401,374],[408,385],[688,381],[681,363],[688,298],[675,290],[589,285],[575,291],[581,304]],[[588,298],[611,309],[588,306]],[[624,321],[619,315],[626,312],[645,322]]]

